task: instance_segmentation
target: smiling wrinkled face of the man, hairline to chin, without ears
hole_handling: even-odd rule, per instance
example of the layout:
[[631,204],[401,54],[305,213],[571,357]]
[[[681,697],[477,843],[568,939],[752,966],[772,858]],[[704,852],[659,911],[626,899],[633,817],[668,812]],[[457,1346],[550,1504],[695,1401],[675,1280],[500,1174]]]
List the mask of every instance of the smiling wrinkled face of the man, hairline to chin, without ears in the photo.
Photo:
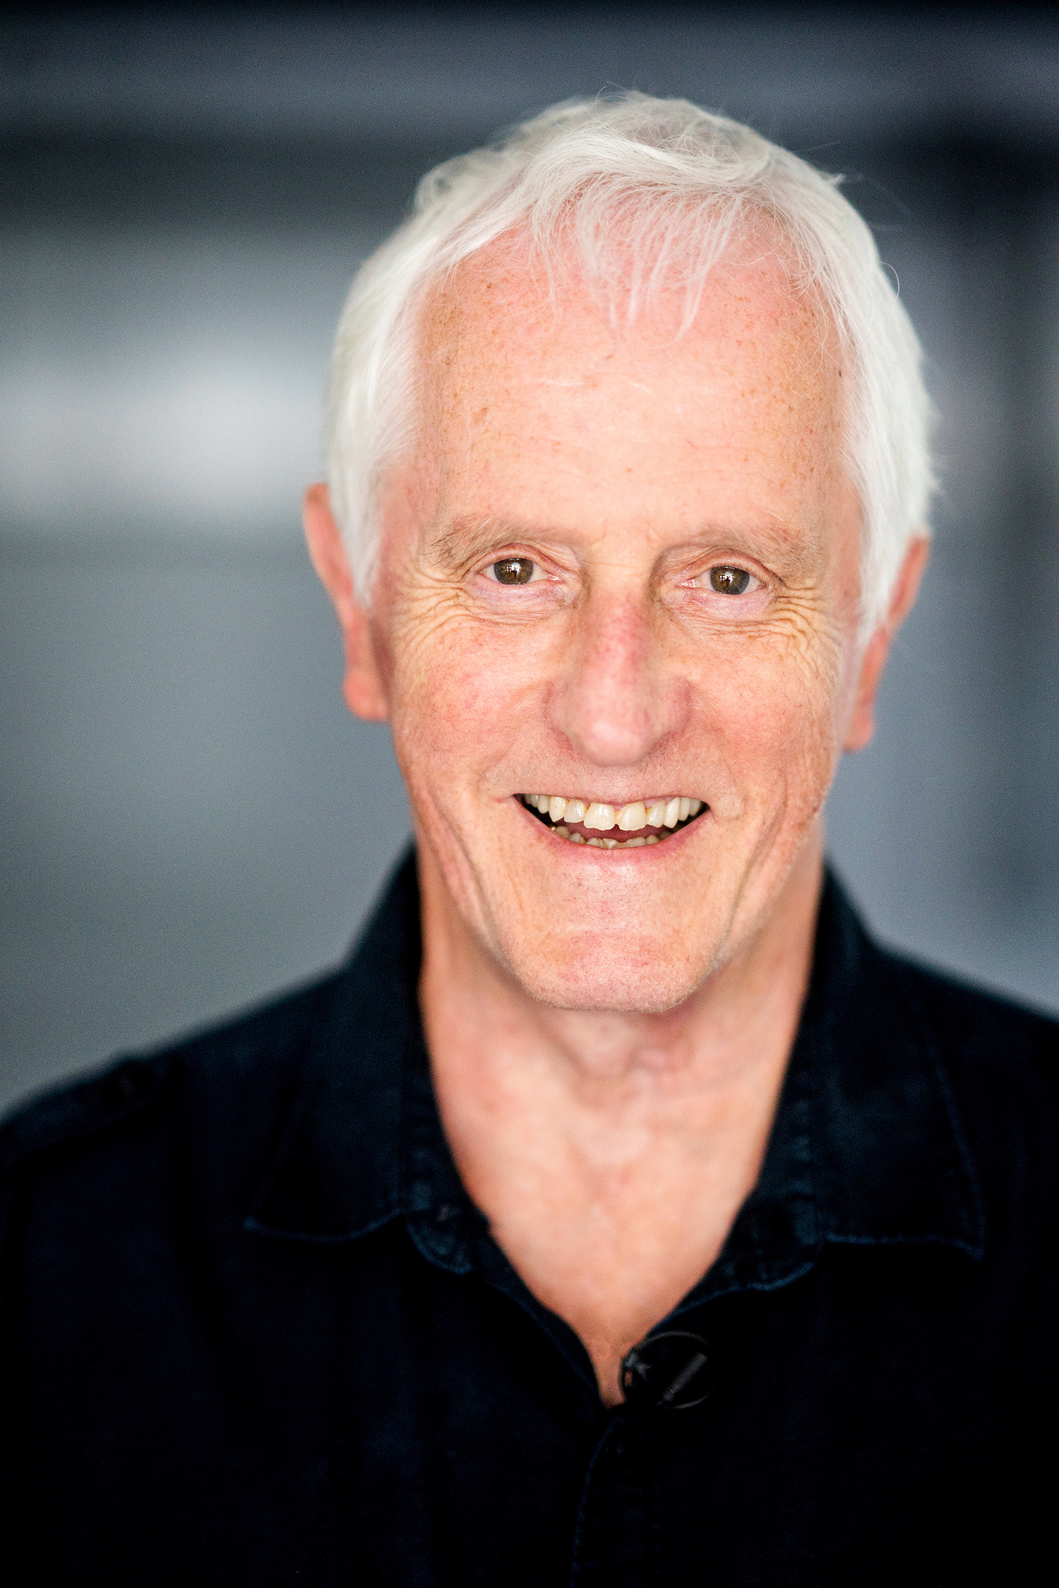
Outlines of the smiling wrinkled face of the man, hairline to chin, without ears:
[[849,375],[761,252],[683,337],[665,302],[632,329],[576,284],[553,306],[500,245],[427,305],[375,665],[435,897],[556,1007],[683,1002],[773,907],[834,773]]

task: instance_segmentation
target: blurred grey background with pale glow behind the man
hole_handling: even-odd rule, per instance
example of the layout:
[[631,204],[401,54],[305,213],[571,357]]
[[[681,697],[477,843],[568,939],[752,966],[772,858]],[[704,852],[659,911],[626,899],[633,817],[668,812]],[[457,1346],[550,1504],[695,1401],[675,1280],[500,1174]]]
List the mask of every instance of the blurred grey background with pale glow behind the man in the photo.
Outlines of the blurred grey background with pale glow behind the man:
[[1059,1010],[1059,29],[1005,10],[0,22],[0,1102],[308,977],[408,831],[298,537],[357,264],[435,160],[608,84],[848,173],[942,414],[937,549],[830,850]]

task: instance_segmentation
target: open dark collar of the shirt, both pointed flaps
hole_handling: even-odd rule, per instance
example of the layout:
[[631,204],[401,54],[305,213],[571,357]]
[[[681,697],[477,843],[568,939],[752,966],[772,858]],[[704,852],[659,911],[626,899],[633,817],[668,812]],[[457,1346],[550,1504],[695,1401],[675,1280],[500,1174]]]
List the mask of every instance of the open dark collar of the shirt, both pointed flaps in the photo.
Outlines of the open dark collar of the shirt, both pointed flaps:
[[[319,992],[249,1231],[338,1242],[406,1218],[435,1261],[472,1266],[468,1237],[481,1218],[433,1102],[419,958],[410,854],[349,966]],[[915,978],[867,939],[832,875],[759,1185],[687,1305],[788,1283],[826,1242],[940,1242],[973,1258],[983,1250],[973,1164]]]

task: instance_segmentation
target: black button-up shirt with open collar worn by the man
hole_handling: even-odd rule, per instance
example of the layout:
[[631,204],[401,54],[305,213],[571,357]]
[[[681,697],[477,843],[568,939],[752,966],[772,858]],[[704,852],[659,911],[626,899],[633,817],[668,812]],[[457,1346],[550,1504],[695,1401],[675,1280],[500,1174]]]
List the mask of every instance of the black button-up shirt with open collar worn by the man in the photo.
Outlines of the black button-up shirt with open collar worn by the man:
[[5,1583],[1054,1580],[1059,1026],[829,880],[761,1183],[608,1410],[460,1186],[418,966],[408,862],[337,975],[6,1123]]

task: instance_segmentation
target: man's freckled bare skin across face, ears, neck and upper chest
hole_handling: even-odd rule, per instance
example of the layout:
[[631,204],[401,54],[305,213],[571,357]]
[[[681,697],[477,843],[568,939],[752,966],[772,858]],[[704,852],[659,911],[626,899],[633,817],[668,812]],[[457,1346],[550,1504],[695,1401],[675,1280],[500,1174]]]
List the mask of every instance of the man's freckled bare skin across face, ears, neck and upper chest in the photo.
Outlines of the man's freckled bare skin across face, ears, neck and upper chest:
[[[600,1394],[713,1262],[759,1174],[797,1027],[819,810],[872,732],[835,337],[746,248],[692,329],[632,329],[518,246],[424,305],[419,429],[381,494],[372,610],[322,486],[306,532],[346,699],[387,718],[416,827],[421,1007],[464,1183]],[[526,557],[535,576],[489,569]],[[751,575],[711,589],[711,567]],[[710,810],[651,848],[549,834],[521,794]]]

